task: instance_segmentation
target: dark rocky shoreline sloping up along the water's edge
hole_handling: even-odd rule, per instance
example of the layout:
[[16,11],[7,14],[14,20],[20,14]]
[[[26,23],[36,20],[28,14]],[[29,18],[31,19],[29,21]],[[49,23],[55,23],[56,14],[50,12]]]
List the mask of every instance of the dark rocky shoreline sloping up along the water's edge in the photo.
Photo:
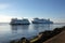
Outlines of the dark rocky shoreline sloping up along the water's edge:
[[62,31],[65,30],[65,26],[61,27],[61,28],[55,28],[54,30],[46,30],[43,32],[39,32],[39,35],[34,37],[30,40],[27,40],[25,37],[22,38],[18,41],[11,41],[10,43],[43,43],[47,40],[57,35],[58,33],[61,33]]

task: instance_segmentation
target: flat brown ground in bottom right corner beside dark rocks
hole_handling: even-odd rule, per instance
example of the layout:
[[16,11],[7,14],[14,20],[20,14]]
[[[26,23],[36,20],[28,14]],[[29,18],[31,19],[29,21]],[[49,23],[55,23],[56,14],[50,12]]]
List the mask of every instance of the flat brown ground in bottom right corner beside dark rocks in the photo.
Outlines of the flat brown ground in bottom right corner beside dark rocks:
[[60,34],[49,39],[43,43],[65,43],[65,31],[62,31]]

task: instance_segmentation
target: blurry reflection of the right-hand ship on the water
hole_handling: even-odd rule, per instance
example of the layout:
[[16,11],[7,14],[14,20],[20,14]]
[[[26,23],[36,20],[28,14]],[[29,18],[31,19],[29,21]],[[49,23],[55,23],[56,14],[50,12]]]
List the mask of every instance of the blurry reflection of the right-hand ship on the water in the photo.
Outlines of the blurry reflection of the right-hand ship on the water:
[[44,30],[51,30],[50,24],[34,24],[32,28],[39,32]]

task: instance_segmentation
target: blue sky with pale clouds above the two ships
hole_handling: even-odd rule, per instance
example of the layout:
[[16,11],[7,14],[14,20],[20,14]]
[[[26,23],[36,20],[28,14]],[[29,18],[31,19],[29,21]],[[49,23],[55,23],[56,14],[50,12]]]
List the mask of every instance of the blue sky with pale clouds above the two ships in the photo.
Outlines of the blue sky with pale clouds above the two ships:
[[0,0],[0,22],[12,17],[43,17],[65,23],[65,0]]

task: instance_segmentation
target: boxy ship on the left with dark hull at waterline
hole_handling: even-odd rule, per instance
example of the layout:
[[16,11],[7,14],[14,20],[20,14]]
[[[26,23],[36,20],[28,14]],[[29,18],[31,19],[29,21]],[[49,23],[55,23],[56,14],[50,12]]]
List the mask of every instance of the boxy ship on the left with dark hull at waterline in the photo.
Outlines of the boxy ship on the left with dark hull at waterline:
[[17,19],[17,18],[12,18],[10,25],[29,25],[29,20],[27,18],[23,19]]

